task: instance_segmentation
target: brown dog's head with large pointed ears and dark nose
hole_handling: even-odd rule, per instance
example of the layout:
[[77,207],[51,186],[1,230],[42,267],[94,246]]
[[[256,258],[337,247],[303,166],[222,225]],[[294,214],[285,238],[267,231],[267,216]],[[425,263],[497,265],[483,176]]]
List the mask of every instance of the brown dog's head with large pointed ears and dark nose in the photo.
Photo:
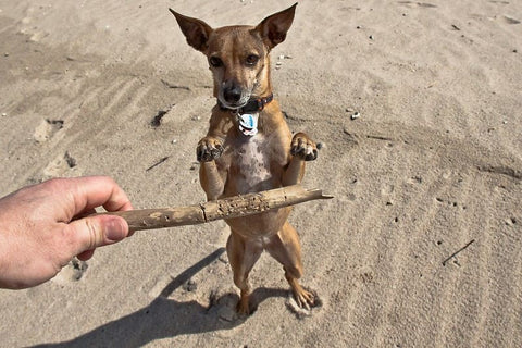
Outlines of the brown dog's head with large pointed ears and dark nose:
[[216,29],[203,21],[169,10],[188,45],[207,55],[214,77],[214,96],[225,108],[239,109],[251,97],[271,90],[269,52],[285,40],[296,5],[268,16],[257,26]]

